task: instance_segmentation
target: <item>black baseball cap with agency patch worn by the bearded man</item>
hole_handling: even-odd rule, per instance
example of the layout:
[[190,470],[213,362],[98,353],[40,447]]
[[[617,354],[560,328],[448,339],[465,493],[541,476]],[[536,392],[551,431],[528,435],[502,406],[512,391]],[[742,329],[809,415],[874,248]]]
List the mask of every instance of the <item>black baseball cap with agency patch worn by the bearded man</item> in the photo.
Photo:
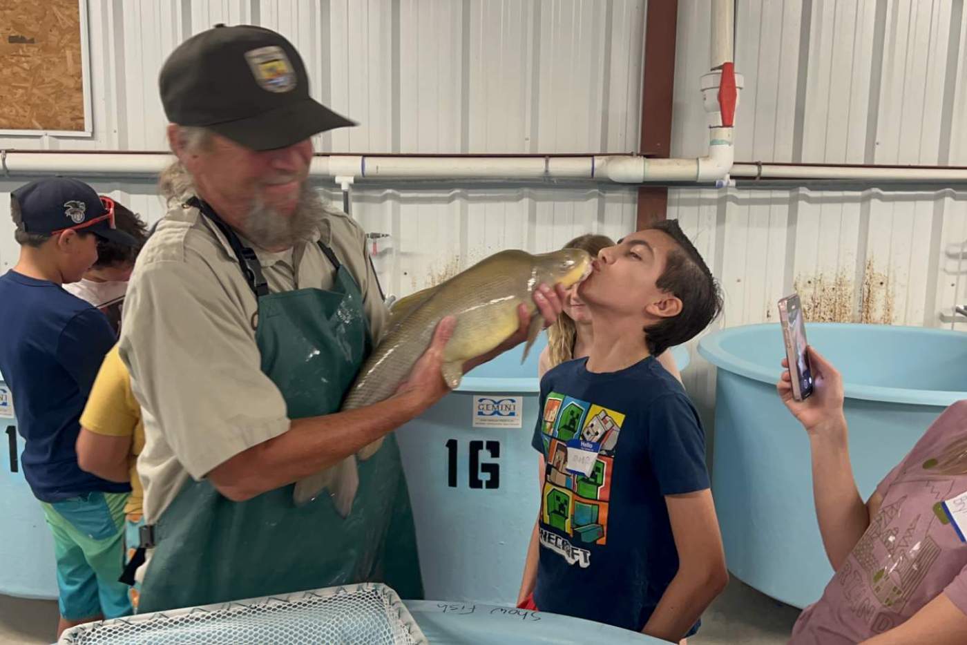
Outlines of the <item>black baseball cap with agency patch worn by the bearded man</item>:
[[309,96],[299,52],[263,27],[217,24],[192,36],[164,61],[159,85],[168,121],[207,128],[252,150],[357,125]]

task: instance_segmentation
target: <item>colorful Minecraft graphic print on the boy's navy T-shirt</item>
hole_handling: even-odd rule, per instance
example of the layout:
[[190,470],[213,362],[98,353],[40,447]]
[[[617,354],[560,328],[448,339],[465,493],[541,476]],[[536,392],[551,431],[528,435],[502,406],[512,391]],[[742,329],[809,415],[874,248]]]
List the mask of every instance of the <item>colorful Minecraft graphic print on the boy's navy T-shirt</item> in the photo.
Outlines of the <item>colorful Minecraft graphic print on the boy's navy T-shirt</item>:
[[[615,448],[625,415],[550,393],[544,402],[542,438],[546,470],[542,487],[542,523],[571,537],[571,542],[541,531],[541,543],[571,564],[587,567],[590,553],[582,544],[607,543],[607,517]],[[569,468],[574,449],[588,465]]]

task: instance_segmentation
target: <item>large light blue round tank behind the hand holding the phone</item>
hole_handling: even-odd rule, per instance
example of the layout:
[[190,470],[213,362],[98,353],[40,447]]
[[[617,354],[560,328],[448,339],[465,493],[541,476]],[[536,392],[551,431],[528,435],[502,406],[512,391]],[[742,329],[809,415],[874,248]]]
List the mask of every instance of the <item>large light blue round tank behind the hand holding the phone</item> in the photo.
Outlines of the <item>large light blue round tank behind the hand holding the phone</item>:
[[[866,499],[945,407],[967,398],[967,335],[852,324],[806,325],[842,373],[853,472]],[[785,356],[777,324],[704,337],[718,366],[712,492],[728,568],[797,607],[833,576],[812,499],[809,443],[776,392]]]

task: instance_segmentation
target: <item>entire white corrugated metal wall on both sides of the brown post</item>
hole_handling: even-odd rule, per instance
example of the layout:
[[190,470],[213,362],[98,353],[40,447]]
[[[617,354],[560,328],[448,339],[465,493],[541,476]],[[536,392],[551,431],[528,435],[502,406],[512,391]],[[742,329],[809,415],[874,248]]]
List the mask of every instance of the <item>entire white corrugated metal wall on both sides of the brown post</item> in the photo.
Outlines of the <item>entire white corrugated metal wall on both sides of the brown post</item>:
[[[679,4],[673,154],[696,156],[708,5]],[[285,34],[315,97],[361,123],[318,137],[318,150],[629,152],[644,10],[645,0],[89,0],[93,137],[0,137],[0,149],[163,148],[161,62],[223,21]],[[738,160],[967,164],[963,0],[738,0],[736,15]],[[148,182],[97,188],[161,215]],[[965,197],[681,189],[670,216],[722,281],[722,324],[770,320],[796,286],[818,318],[933,326],[967,301]],[[400,295],[496,249],[621,236],[635,211],[634,191],[612,186],[357,187],[353,203],[368,230],[391,234],[375,264]],[[6,209],[0,197],[3,267],[16,253]],[[708,409],[712,373],[693,362],[687,384]]]

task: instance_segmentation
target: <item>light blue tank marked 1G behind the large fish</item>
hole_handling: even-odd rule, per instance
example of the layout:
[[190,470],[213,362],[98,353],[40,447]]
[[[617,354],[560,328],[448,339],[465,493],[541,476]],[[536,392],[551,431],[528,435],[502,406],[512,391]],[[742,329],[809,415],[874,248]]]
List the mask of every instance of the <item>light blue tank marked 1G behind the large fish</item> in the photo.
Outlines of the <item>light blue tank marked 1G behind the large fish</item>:
[[[396,432],[417,525],[426,598],[511,604],[540,506],[541,335],[463,378],[460,387]],[[685,347],[672,350],[680,370]]]

